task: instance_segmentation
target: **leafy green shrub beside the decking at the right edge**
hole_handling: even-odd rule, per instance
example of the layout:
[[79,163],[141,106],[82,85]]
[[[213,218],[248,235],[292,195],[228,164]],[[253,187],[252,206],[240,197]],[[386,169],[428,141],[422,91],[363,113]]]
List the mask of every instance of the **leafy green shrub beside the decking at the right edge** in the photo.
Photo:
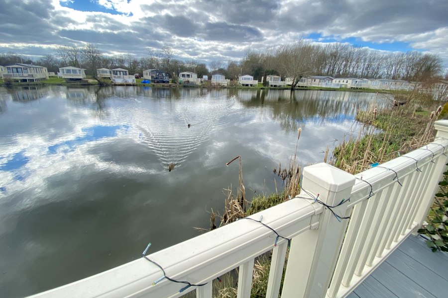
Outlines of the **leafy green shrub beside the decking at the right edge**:
[[448,172],[444,173],[444,179],[439,182],[439,192],[436,194],[427,222],[428,224],[418,230],[419,233],[429,237],[426,245],[432,251],[448,251]]

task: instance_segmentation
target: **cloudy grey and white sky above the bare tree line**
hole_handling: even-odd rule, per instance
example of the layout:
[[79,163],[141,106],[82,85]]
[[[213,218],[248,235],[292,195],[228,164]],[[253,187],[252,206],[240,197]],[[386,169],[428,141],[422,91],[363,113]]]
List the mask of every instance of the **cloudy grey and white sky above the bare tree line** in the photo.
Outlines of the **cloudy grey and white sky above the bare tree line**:
[[171,46],[178,59],[239,59],[300,37],[440,55],[447,0],[0,0],[0,52],[95,43],[107,54]]

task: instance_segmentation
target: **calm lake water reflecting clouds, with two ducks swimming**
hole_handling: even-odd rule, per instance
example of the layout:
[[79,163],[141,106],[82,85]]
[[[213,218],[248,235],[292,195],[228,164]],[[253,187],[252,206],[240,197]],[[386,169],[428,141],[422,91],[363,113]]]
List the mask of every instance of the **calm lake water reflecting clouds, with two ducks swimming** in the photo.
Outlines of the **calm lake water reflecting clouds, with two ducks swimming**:
[[[320,162],[375,93],[0,87],[0,296],[24,297],[198,235],[223,189],[275,191]],[[188,127],[191,124],[191,127]],[[175,163],[169,172],[168,166]]]

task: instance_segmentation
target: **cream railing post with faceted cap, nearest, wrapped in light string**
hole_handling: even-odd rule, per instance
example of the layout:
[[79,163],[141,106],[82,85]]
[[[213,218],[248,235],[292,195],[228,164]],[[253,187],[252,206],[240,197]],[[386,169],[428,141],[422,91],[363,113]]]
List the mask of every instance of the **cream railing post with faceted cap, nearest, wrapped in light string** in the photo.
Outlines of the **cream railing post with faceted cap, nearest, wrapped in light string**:
[[[319,194],[319,200],[329,206],[336,206],[343,199],[349,199],[354,183],[353,175],[327,163],[318,163],[304,168],[299,196],[307,196],[305,191],[315,197]],[[309,201],[310,204],[318,205],[313,200]],[[351,209],[348,210],[346,206],[343,204],[332,209],[337,215],[345,217],[351,213]],[[320,214],[317,229],[292,239],[282,298],[326,296],[347,224],[348,220],[339,222],[325,208]]]

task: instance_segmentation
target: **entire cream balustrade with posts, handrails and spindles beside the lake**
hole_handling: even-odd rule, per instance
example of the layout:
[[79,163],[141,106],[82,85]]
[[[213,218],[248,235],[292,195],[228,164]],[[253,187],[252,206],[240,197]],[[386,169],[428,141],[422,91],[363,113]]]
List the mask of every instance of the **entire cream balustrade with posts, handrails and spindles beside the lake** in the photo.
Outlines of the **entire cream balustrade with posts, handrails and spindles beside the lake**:
[[435,127],[434,142],[356,175],[307,166],[296,198],[147,256],[170,278],[205,286],[163,279],[140,258],[33,297],[174,298],[196,289],[211,298],[212,281],[239,267],[237,295],[246,298],[254,258],[273,249],[266,297],[276,298],[288,246],[276,233],[292,239],[282,298],[346,297],[426,218],[447,163],[448,121]]

